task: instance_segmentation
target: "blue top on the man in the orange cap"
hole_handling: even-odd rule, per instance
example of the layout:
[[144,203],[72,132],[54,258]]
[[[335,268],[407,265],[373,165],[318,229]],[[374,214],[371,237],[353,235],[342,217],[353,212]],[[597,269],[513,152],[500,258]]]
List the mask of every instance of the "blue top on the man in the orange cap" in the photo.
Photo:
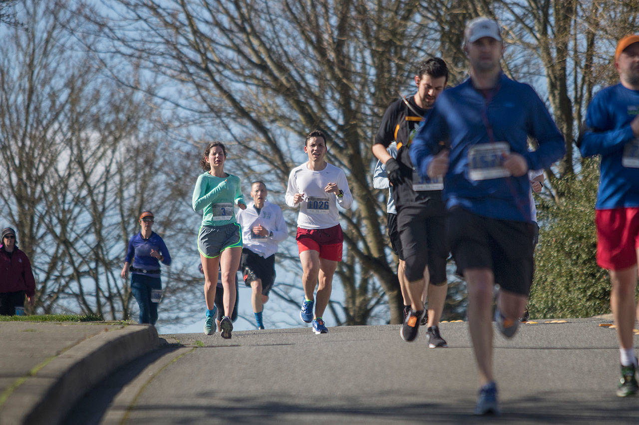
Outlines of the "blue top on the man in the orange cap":
[[639,207],[639,137],[630,122],[639,114],[639,91],[622,84],[592,99],[578,144],[582,156],[601,155],[596,209]]

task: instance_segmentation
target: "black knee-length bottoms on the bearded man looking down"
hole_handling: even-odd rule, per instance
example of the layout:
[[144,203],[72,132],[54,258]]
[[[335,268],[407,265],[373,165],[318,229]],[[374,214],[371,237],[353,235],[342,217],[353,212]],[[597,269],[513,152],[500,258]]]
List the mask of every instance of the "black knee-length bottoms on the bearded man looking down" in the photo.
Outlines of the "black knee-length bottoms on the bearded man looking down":
[[446,243],[445,211],[431,205],[401,205],[397,211],[397,230],[406,262],[406,279],[420,280],[428,265],[430,283],[445,285]]

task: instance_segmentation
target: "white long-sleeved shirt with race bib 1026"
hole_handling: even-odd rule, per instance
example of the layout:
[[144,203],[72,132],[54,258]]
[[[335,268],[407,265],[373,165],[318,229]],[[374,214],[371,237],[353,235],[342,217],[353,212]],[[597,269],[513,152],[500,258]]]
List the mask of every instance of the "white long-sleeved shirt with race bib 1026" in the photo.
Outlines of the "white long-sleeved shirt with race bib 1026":
[[[337,188],[344,192],[343,197],[335,193],[326,193],[324,188],[328,183],[337,183]],[[304,193],[304,200],[299,204],[293,203],[296,193]],[[297,225],[301,228],[330,228],[339,224],[337,205],[344,209],[353,204],[353,195],[348,188],[346,175],[334,165],[327,163],[323,170],[309,170],[307,162],[291,170],[286,188],[286,205],[296,207],[300,205]]]

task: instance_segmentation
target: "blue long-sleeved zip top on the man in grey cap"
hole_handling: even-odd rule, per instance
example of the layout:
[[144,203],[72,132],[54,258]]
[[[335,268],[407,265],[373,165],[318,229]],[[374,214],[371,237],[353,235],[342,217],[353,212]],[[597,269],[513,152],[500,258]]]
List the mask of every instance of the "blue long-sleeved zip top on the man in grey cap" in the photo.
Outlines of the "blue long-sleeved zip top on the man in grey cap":
[[[528,137],[539,149],[528,151]],[[482,94],[470,78],[443,91],[410,146],[410,157],[426,175],[433,156],[450,149],[443,197],[448,209],[461,206],[480,216],[531,221],[530,181],[505,176],[504,153],[523,156],[541,170],[566,153],[564,137],[534,89],[500,75],[495,89]]]

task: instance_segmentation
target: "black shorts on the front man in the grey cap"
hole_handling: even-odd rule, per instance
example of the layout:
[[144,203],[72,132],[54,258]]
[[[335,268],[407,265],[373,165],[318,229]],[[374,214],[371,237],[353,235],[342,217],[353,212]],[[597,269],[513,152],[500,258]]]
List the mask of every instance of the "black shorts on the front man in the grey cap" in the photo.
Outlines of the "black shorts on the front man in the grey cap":
[[515,294],[530,292],[533,236],[533,223],[478,216],[461,207],[449,212],[448,241],[458,271],[491,269],[495,283]]

